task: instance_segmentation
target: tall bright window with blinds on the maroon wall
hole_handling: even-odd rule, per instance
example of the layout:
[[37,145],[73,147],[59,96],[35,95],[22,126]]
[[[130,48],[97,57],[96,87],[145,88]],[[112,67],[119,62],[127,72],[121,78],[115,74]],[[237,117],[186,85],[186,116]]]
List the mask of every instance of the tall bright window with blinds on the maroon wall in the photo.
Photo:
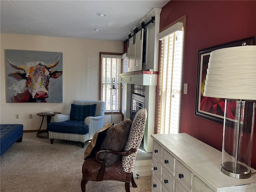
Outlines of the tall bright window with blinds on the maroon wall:
[[158,134],[179,132],[183,24],[178,22],[159,34],[161,58],[159,70]]

